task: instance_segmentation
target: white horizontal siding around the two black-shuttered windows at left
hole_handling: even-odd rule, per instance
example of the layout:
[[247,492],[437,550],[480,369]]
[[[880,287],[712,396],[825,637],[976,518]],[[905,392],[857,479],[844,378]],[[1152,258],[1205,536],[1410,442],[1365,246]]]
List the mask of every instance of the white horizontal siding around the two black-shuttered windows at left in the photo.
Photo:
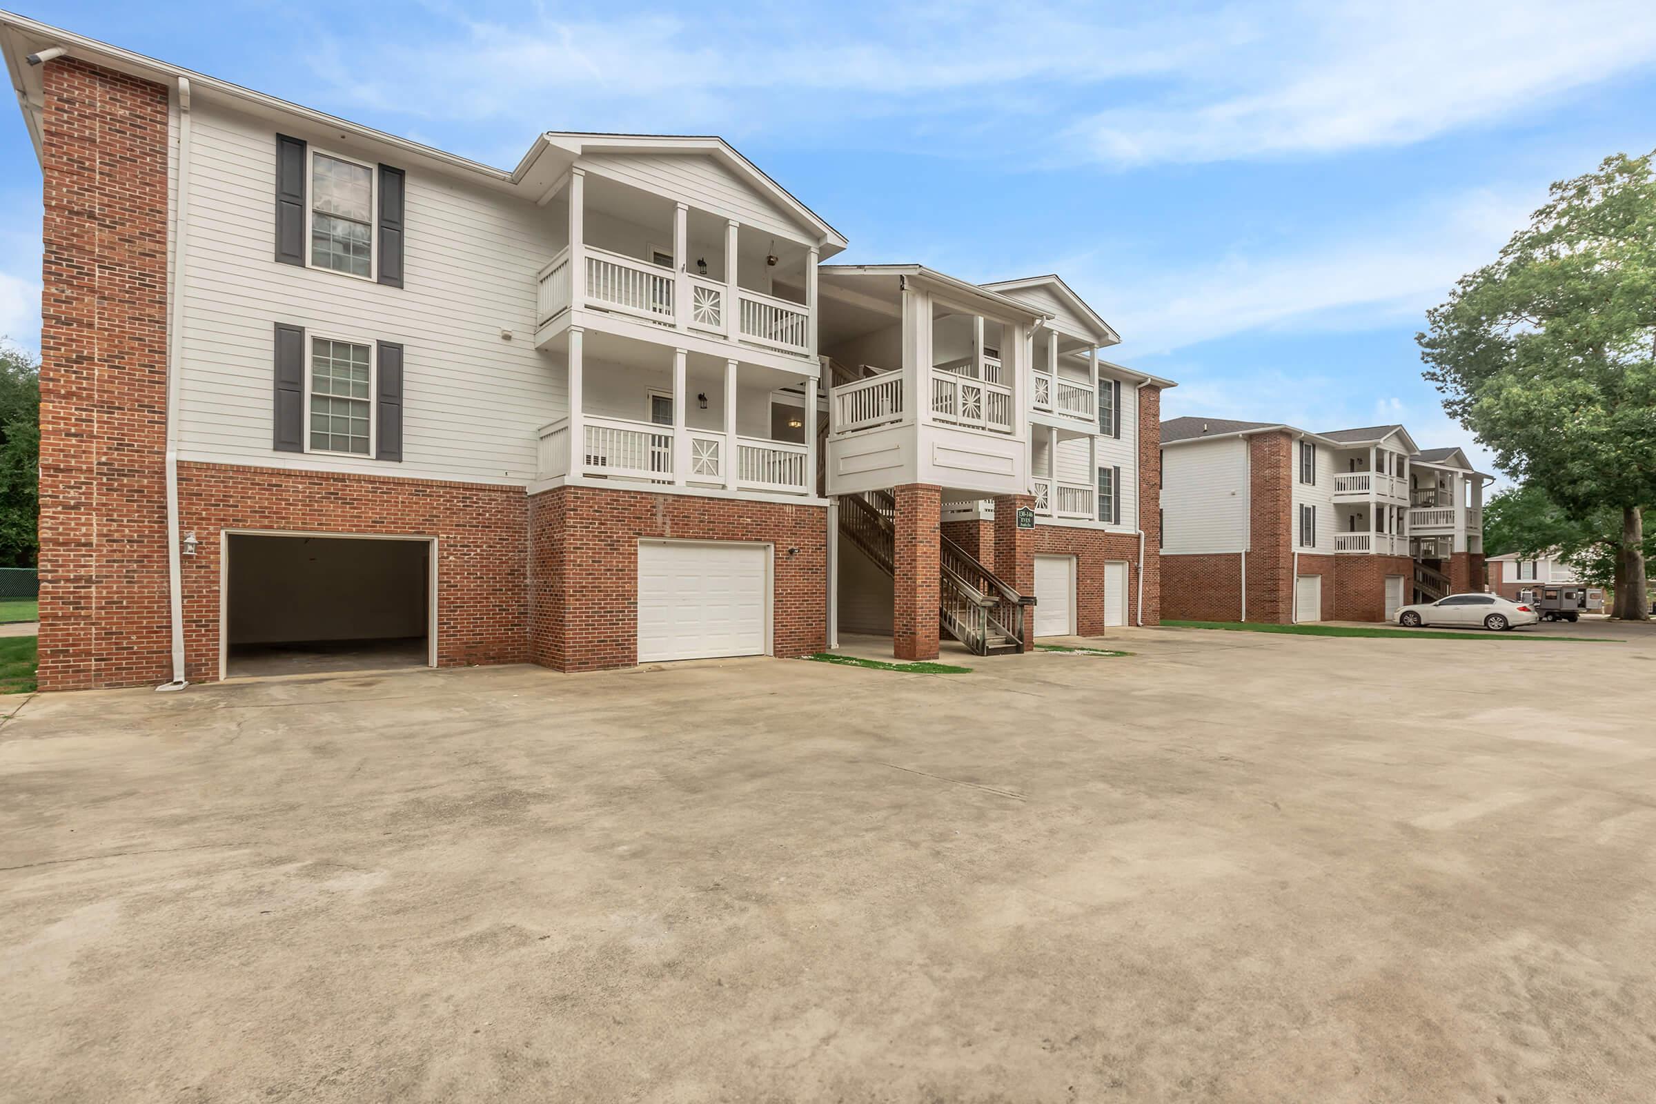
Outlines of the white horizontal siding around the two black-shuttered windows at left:
[[[384,473],[368,457],[272,452],[280,321],[404,344],[397,475],[532,478],[535,430],[566,414],[563,364],[533,348],[535,273],[555,252],[551,215],[409,164],[406,288],[326,280],[273,260],[275,126],[204,99],[192,127],[182,457]],[[368,149],[338,152],[379,161]]]

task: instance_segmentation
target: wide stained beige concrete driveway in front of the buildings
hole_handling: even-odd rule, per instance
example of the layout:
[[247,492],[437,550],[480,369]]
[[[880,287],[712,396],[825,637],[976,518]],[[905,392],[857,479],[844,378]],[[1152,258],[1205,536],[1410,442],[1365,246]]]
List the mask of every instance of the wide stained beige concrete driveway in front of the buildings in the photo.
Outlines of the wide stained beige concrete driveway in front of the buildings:
[[35,697],[0,1099],[1653,1097],[1656,637],[1113,644]]

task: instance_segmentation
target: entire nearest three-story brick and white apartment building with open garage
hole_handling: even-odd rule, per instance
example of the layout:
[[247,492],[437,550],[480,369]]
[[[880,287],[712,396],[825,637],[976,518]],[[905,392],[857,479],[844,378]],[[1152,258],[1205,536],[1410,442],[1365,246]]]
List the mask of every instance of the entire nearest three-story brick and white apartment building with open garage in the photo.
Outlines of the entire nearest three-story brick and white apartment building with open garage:
[[[1164,381],[1098,369],[1138,419],[1129,457],[1085,445],[1110,520],[1015,526],[1058,377],[1113,341],[1055,278],[820,266],[845,238],[717,137],[548,132],[505,172],[18,17],[0,46],[45,175],[43,689],[296,641],[798,655],[836,629],[846,528],[886,550],[904,655],[939,626],[1028,647],[1048,550],[1081,589],[1093,545],[1131,559],[1154,621],[1121,488]],[[1009,508],[969,564],[939,521],[974,497]]]

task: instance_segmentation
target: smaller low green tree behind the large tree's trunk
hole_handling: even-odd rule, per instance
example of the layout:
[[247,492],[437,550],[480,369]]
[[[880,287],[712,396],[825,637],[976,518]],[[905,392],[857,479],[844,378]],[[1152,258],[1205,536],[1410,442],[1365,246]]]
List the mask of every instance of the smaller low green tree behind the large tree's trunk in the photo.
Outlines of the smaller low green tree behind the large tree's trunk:
[[[1484,550],[1522,559],[1557,554],[1590,586],[1615,586],[1621,511],[1600,506],[1572,516],[1538,487],[1512,487],[1484,505]],[[1644,528],[1646,561],[1656,556],[1656,526]]]

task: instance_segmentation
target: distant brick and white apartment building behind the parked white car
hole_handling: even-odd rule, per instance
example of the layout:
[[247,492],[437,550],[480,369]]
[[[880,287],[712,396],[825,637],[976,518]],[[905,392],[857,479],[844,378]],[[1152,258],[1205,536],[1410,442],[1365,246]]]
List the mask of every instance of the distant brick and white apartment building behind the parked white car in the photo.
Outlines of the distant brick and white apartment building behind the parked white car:
[[1403,425],[1163,422],[1163,617],[1391,621],[1482,589],[1482,488]]

